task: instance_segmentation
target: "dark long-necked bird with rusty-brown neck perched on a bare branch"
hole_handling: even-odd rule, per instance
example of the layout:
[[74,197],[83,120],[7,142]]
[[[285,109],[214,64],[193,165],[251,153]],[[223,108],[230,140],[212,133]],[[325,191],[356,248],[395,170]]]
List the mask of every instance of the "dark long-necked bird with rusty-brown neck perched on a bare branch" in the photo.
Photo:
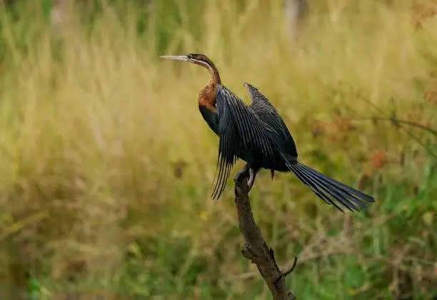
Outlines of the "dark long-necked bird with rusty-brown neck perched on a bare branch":
[[218,199],[225,190],[231,168],[238,159],[246,162],[236,172],[234,180],[247,179],[248,191],[253,187],[259,170],[293,172],[316,196],[336,209],[360,211],[375,202],[374,197],[338,182],[298,160],[296,143],[281,115],[258,88],[244,82],[251,104],[238,98],[223,86],[218,69],[202,53],[188,53],[160,58],[187,61],[209,71],[209,84],[198,95],[199,111],[218,136],[218,157],[214,188],[211,197]]

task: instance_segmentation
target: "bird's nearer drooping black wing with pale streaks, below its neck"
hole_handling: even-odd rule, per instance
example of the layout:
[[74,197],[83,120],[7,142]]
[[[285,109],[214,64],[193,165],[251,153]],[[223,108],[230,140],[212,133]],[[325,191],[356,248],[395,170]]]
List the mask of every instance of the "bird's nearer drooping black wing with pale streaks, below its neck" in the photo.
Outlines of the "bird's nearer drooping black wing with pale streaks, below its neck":
[[248,105],[221,85],[217,87],[216,103],[220,140],[214,199],[218,199],[223,192],[231,167],[238,156],[263,155],[273,159],[272,143],[266,129]]

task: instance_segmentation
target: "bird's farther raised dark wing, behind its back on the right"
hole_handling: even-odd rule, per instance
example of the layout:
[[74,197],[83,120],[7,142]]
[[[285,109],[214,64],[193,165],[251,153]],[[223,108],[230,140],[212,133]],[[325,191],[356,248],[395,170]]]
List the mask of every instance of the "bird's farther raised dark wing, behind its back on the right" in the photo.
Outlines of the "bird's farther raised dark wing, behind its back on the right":
[[252,103],[249,106],[263,123],[266,123],[268,127],[276,133],[272,135],[272,139],[275,140],[278,145],[281,145],[281,148],[283,148],[288,155],[297,157],[296,144],[286,124],[283,122],[281,115],[276,111],[276,108],[271,105],[267,97],[260,93],[257,88],[251,86],[249,83],[244,83],[244,86],[251,96]]

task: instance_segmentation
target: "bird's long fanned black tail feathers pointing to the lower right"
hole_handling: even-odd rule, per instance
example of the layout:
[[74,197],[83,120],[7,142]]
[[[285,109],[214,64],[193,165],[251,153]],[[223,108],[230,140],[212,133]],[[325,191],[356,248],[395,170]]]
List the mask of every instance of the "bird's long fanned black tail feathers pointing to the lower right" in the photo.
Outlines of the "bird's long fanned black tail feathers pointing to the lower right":
[[360,208],[367,207],[366,202],[375,202],[373,197],[333,180],[331,177],[323,175],[321,172],[317,172],[296,160],[288,162],[287,166],[321,200],[335,206],[341,212],[343,212],[341,206],[346,207],[348,210],[359,211]]

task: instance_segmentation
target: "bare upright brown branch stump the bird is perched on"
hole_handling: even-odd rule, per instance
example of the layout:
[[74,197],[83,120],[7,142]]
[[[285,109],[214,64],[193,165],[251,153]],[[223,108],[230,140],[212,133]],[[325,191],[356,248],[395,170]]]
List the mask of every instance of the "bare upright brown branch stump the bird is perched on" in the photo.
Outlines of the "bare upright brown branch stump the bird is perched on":
[[247,178],[237,176],[235,181],[235,204],[238,215],[238,224],[246,243],[241,254],[256,264],[258,271],[268,285],[274,300],[296,300],[296,296],[286,288],[285,278],[295,269],[297,257],[293,266],[287,271],[281,271],[276,264],[273,249],[268,247],[261,235],[261,230],[253,219],[251,203],[248,199]]

